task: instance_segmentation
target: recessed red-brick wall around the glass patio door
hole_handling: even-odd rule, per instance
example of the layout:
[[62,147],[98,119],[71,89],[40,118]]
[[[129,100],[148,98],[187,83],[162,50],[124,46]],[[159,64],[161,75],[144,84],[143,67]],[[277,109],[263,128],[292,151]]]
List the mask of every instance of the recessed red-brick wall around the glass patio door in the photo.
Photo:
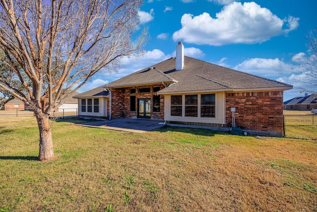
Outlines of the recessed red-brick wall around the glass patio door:
[[[138,88],[150,87],[150,93],[138,93]],[[160,87],[163,89],[162,84],[147,85],[147,86],[134,86],[125,88],[111,88],[111,118],[137,118],[137,111],[130,112],[130,95],[136,96],[135,108],[138,110],[137,101],[139,98],[151,98],[151,119],[164,119],[164,96],[160,95],[160,112],[153,112],[153,87]],[[136,93],[130,94],[130,89],[135,88]],[[109,110],[109,102],[108,102]]]

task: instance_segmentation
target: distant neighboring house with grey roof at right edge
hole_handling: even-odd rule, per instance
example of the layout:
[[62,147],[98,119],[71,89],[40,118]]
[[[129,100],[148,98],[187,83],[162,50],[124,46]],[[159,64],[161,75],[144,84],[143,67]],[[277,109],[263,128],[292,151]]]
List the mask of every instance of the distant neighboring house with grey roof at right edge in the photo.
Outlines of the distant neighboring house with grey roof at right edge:
[[295,97],[284,102],[284,110],[311,111],[317,108],[317,94]]

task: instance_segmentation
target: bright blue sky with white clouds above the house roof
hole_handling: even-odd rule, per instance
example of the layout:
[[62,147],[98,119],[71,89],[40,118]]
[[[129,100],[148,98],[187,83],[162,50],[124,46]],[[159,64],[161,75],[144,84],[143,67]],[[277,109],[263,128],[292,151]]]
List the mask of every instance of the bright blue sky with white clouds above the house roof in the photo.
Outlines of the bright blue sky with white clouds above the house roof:
[[298,59],[307,56],[316,8],[317,0],[145,0],[138,11],[139,30],[148,28],[145,54],[123,58],[117,73],[99,73],[78,92],[175,57],[182,41],[185,56],[293,85],[284,101],[304,96]]

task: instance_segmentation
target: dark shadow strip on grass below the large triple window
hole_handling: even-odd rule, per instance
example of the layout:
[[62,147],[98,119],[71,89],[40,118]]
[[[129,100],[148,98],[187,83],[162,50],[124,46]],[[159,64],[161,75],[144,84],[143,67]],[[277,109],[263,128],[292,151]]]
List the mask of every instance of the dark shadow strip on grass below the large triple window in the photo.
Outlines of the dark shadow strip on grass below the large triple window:
[[158,129],[153,130],[154,132],[166,133],[166,132],[180,132],[180,133],[189,133],[198,136],[214,136],[214,135],[230,135],[225,131],[214,131],[209,129],[201,128],[188,128],[188,127],[173,127],[173,126],[164,126]]

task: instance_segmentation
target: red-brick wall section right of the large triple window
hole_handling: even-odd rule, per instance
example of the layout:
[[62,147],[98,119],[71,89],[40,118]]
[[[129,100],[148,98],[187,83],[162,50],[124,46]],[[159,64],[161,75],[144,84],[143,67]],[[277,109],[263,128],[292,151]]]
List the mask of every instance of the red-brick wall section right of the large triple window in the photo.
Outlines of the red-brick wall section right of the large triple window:
[[232,126],[231,107],[236,127],[283,136],[283,91],[226,93],[227,126]]

